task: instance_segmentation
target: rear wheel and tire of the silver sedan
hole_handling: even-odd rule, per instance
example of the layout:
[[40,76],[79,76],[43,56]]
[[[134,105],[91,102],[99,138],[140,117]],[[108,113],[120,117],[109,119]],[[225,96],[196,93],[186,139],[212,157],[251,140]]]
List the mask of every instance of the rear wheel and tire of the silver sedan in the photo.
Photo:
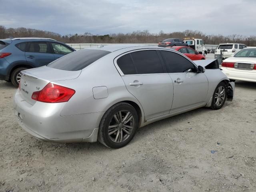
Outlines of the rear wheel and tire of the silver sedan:
[[[119,112],[122,116],[121,121]],[[98,141],[109,148],[121,148],[132,140],[137,128],[138,114],[135,108],[126,102],[120,102],[110,107],[103,115]]]

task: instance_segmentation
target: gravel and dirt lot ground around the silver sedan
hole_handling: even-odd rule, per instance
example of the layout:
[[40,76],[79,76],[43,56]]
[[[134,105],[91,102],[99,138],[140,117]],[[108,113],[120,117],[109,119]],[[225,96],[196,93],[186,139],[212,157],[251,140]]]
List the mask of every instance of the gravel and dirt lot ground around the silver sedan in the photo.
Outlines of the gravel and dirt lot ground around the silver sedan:
[[0,81],[1,192],[256,191],[256,83],[236,82],[220,110],[141,128],[118,150],[36,140],[12,116],[15,90]]

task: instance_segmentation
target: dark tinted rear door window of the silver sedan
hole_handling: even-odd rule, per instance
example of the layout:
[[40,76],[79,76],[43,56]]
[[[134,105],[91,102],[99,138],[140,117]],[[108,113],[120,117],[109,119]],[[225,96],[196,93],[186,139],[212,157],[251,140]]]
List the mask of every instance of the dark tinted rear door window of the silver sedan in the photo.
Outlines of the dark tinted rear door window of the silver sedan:
[[164,69],[156,50],[130,53],[138,74],[163,73]]

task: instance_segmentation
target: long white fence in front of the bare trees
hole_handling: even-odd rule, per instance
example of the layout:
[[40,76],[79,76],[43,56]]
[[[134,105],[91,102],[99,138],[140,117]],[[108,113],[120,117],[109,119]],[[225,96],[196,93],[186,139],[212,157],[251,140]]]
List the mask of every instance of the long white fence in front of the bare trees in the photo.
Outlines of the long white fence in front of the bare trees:
[[[68,45],[74,48],[75,50],[80,50],[80,49],[89,48],[89,47],[97,47],[99,45],[116,45],[116,44],[129,45],[126,43],[68,43]],[[157,46],[158,44],[157,43],[134,43],[133,45]],[[216,49],[218,45],[205,44],[204,46],[206,49]]]

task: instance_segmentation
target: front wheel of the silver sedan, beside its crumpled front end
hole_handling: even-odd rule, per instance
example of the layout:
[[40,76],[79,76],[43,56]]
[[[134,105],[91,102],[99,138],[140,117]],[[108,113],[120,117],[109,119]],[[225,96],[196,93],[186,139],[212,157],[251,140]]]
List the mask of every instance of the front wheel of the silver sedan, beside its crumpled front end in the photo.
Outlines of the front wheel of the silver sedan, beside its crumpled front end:
[[220,82],[214,90],[211,108],[218,110],[222,108],[227,98],[227,89],[224,82]]

